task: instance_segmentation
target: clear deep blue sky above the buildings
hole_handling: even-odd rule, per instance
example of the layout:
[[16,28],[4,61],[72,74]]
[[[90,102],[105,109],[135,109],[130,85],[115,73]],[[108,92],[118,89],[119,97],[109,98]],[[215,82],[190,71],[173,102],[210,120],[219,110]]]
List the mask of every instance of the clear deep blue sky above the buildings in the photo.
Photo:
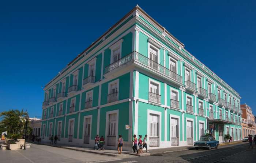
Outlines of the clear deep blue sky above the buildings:
[[41,86],[139,4],[256,114],[256,1],[120,2],[1,1],[0,111],[41,116]]

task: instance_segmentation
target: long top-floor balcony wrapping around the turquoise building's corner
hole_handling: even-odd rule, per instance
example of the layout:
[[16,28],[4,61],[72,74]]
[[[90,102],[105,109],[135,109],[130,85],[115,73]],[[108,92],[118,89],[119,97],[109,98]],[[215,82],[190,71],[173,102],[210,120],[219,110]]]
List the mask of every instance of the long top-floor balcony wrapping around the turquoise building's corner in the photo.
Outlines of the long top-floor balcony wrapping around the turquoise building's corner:
[[125,68],[138,67],[156,76],[163,77],[177,86],[182,86],[182,76],[170,71],[168,68],[163,67],[157,62],[149,59],[148,57],[133,51],[127,56],[115,61],[114,63],[105,67],[104,76],[118,75],[122,73]]

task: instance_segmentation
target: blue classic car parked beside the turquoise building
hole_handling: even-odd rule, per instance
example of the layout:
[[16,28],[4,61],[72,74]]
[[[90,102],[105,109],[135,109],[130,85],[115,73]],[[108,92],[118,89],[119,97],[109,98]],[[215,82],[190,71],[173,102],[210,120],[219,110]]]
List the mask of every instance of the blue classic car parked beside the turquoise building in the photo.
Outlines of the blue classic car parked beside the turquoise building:
[[218,148],[219,141],[215,140],[212,136],[202,136],[198,142],[194,143],[194,146],[196,150],[199,148],[207,148],[208,150],[211,150],[213,147]]

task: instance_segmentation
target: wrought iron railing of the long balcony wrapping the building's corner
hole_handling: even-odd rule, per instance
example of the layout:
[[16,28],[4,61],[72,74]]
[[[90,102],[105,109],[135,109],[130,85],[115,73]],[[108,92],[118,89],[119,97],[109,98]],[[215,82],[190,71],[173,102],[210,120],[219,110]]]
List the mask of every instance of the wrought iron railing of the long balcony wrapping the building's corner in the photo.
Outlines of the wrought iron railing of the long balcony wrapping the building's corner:
[[152,71],[156,71],[157,73],[160,73],[161,75],[164,75],[166,77],[169,77],[176,83],[182,85],[182,76],[178,75],[175,72],[170,71],[168,68],[162,66],[161,64],[158,64],[157,62],[149,59],[148,57],[133,51],[127,56],[115,61],[114,63],[108,65],[105,67],[105,73],[107,74],[111,71],[114,71],[116,69],[123,68],[129,64],[137,64],[143,67],[147,67],[148,69]]

